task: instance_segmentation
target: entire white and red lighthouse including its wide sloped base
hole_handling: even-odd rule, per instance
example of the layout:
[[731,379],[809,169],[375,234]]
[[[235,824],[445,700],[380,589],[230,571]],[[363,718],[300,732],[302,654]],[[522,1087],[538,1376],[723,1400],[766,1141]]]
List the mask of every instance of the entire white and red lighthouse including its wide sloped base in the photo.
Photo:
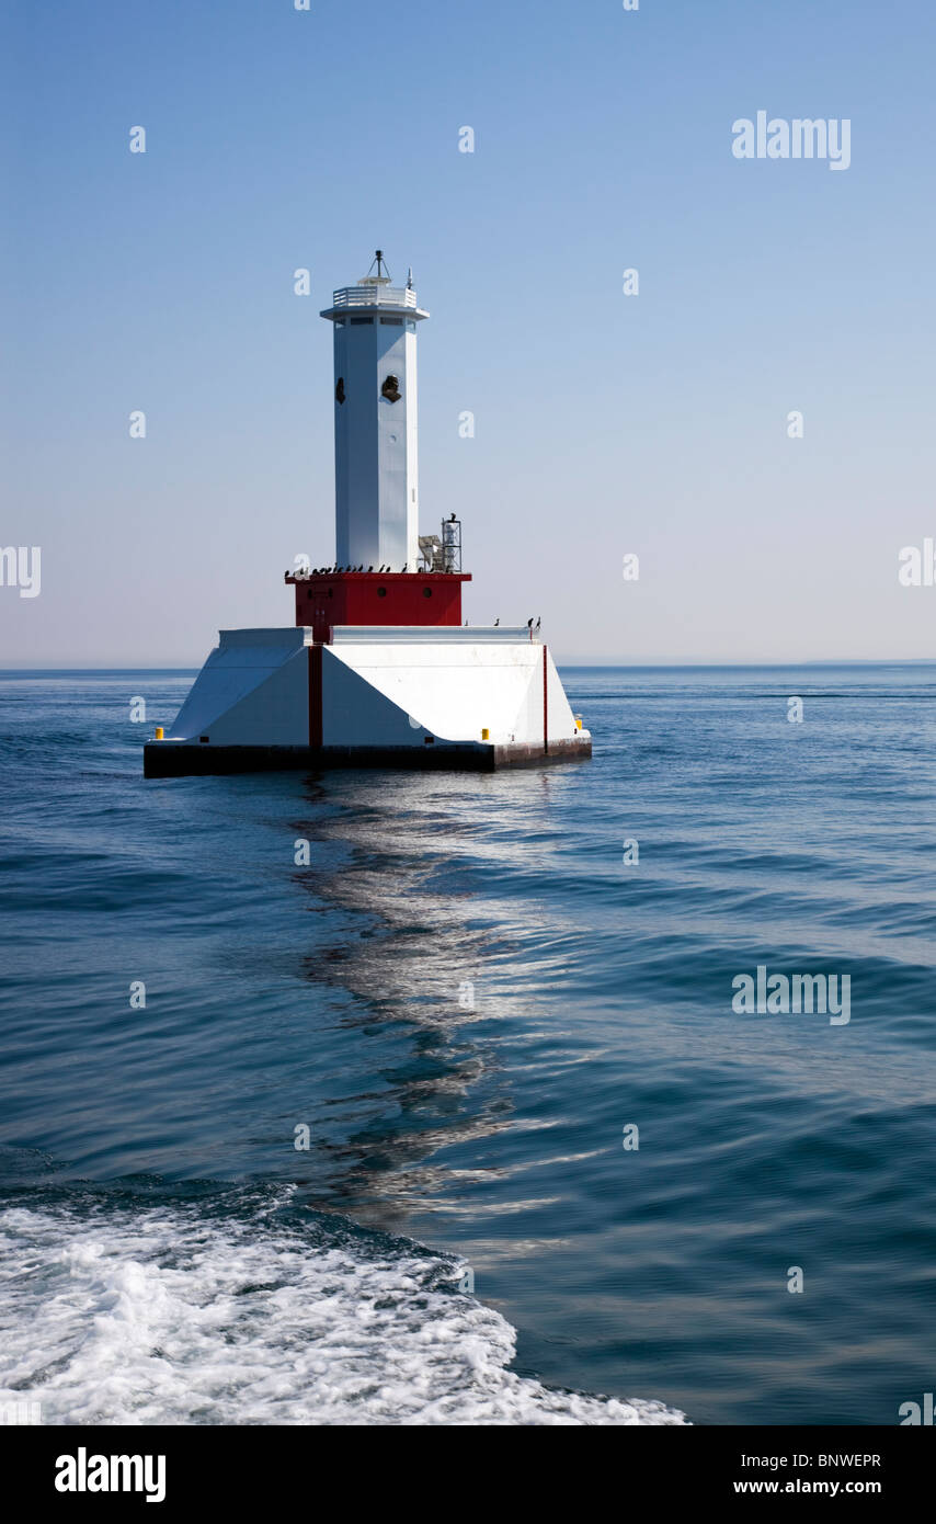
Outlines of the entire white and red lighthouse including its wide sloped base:
[[334,331],[335,559],[287,573],[294,623],[223,629],[146,777],[465,768],[588,757],[540,620],[462,623],[462,526],[419,533],[416,341],[428,312],[383,250]]

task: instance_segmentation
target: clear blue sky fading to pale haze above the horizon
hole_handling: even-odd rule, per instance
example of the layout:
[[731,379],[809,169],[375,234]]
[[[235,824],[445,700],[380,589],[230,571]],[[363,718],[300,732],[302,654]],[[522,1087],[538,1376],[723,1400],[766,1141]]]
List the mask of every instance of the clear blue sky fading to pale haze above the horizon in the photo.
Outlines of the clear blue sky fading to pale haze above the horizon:
[[[41,549],[2,668],[293,622],[334,559],[319,311],[375,247],[431,314],[421,532],[462,520],[473,623],[936,657],[898,579],[936,536],[931,0],[8,0],[0,53],[0,546]],[[846,119],[848,169],[736,157],[758,111]]]

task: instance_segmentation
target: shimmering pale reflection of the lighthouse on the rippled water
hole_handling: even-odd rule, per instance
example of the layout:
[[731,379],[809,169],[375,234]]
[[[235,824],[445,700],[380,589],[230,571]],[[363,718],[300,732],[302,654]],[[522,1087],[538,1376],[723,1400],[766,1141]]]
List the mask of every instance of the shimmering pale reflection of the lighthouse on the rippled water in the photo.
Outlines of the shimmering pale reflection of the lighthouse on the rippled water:
[[[380,1097],[380,1114],[341,1143],[320,1141],[338,1173],[329,1170],[325,1199],[319,1170],[305,1177],[311,1202],[402,1231],[409,1207],[454,1210],[445,1196],[451,1172],[430,1163],[436,1151],[509,1126],[497,1024],[511,1018],[535,1038],[541,948],[561,927],[532,899],[512,901],[505,917],[503,899],[486,898],[485,887],[498,863],[518,872],[531,850],[549,850],[553,782],[547,770],[308,780],[316,808],[293,824],[313,843],[313,863],[296,870],[296,882],[311,908],[351,913],[357,936],[305,957],[303,977],[355,997],[346,1024],[386,1032],[398,1023],[409,1038],[399,1061],[381,1061],[375,1088],[357,1097],[369,1109]],[[322,873],[314,844],[326,841],[348,853]],[[527,940],[540,949],[535,960]]]

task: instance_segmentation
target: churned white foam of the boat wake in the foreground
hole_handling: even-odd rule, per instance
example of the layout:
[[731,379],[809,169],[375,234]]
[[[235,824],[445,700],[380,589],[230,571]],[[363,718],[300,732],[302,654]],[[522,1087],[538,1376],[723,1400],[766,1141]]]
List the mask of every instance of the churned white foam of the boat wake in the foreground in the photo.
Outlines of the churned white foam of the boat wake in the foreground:
[[[26,1268],[24,1268],[26,1266]],[[508,1370],[457,1266],[198,1202],[0,1212],[0,1402],[46,1423],[683,1423]]]

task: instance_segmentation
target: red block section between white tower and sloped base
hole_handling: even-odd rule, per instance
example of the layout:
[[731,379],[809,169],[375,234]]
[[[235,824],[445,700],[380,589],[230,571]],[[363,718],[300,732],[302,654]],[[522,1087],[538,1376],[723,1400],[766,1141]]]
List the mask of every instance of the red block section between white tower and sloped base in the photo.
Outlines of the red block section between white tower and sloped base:
[[470,572],[302,572],[296,623],[311,625],[314,640],[331,642],[332,625],[460,625],[462,582]]

